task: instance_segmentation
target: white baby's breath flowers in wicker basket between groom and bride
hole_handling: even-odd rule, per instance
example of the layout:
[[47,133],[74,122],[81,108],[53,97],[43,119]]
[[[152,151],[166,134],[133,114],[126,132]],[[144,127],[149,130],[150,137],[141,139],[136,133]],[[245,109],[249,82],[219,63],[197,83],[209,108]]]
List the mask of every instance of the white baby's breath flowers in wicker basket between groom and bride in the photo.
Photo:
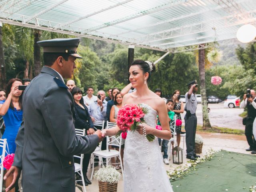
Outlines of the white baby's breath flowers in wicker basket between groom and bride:
[[107,183],[118,183],[121,178],[121,174],[112,166],[102,167],[94,174],[94,179],[107,182]]

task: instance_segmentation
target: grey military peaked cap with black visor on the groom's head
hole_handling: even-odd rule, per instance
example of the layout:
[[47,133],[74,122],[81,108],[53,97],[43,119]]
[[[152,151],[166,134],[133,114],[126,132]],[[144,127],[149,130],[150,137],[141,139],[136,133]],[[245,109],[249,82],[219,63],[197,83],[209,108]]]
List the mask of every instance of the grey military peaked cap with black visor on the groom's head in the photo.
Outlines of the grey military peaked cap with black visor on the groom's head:
[[80,38],[58,38],[38,41],[37,44],[43,47],[44,53],[66,53],[76,58],[82,58],[76,52],[79,42]]

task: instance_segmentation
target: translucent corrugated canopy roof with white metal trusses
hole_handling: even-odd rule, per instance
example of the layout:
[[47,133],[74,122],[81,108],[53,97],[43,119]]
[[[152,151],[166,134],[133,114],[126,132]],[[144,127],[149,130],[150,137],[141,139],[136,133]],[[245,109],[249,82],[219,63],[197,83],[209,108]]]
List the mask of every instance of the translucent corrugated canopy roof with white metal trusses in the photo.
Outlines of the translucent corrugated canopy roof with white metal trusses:
[[237,43],[256,0],[0,0],[0,21],[175,53]]

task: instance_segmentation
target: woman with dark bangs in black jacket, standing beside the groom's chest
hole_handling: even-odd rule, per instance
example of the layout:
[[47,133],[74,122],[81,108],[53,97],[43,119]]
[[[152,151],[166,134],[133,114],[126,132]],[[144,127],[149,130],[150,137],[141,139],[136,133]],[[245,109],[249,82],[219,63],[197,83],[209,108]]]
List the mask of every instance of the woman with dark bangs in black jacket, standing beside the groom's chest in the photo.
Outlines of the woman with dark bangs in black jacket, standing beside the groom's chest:
[[[82,98],[82,90],[78,87],[74,87],[71,91],[71,94],[74,98],[74,108],[75,108],[75,128],[76,129],[85,129],[86,135],[93,134],[93,122],[88,112],[88,108],[84,104],[84,100]],[[90,180],[87,178],[87,169],[90,162],[91,154],[84,154],[83,160],[83,175],[84,175],[84,182],[87,186],[88,184],[92,184]],[[82,181],[78,181],[78,184],[83,185]]]

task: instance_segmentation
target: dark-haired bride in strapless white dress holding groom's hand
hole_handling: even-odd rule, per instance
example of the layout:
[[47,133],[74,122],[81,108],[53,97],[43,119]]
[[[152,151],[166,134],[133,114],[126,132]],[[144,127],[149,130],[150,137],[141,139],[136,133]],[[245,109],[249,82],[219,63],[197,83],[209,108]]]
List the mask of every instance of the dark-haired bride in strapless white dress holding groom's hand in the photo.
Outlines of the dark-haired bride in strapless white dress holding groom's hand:
[[[124,191],[125,192],[172,192],[172,187],[164,168],[162,154],[155,139],[149,142],[143,132],[162,139],[171,138],[167,108],[164,100],[148,88],[148,80],[155,66],[152,62],[135,60],[129,69],[129,80],[135,92],[124,95],[125,104],[142,104],[148,108],[144,116],[146,124],[137,131],[128,131],[124,148]],[[157,130],[156,116],[159,116],[162,130]],[[105,129],[102,136],[115,135],[120,129]]]

